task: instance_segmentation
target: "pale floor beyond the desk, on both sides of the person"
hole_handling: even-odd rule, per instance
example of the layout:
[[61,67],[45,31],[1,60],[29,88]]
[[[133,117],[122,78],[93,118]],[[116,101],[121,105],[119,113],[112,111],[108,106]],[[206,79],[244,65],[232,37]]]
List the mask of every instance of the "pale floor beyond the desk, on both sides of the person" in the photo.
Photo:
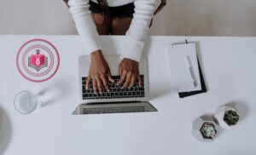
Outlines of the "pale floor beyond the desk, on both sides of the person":
[[[1,0],[0,34],[76,34],[62,0]],[[256,0],[167,0],[152,35],[256,36]]]

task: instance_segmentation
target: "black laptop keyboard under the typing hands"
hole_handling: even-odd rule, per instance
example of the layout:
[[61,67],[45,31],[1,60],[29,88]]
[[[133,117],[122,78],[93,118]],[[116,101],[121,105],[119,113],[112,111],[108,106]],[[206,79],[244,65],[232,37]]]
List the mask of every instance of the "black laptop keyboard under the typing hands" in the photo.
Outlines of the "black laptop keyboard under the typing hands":
[[[121,86],[117,86],[119,76],[112,76],[114,83],[108,82],[108,87],[110,92],[108,93],[105,87],[103,86],[103,93],[94,94],[92,82],[89,84],[89,88],[85,89],[86,77],[82,78],[82,93],[83,100],[95,100],[95,99],[117,99],[117,98],[137,98],[145,97],[144,84],[143,87],[139,88],[138,83],[136,82],[133,87],[129,89],[121,89]],[[144,83],[144,77],[141,75],[142,83]]]

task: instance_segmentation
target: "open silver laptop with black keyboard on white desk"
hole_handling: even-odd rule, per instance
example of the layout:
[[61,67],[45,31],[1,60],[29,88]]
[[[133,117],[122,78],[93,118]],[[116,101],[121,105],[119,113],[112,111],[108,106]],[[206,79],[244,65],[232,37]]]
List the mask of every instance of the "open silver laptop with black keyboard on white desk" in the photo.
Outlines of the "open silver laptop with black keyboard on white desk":
[[148,91],[148,65],[146,56],[142,56],[139,63],[140,76],[143,87],[139,88],[136,82],[129,89],[121,89],[117,86],[119,80],[119,62],[120,55],[105,55],[108,62],[114,83],[108,82],[110,92],[103,88],[103,94],[94,94],[92,82],[89,89],[85,89],[86,78],[90,69],[90,56],[83,55],[79,57],[79,106],[76,107],[73,114],[98,114],[98,113],[120,113],[120,112],[157,112],[157,109],[149,102]]

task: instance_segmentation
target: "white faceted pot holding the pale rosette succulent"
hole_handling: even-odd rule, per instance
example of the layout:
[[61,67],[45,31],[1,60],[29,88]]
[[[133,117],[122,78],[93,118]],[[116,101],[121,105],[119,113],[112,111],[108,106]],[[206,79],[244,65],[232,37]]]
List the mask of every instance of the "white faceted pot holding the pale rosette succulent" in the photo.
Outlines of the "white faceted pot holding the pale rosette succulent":
[[[214,141],[218,136],[218,124],[205,118],[197,118],[192,124],[193,135],[198,141]],[[205,132],[207,130],[207,132]]]

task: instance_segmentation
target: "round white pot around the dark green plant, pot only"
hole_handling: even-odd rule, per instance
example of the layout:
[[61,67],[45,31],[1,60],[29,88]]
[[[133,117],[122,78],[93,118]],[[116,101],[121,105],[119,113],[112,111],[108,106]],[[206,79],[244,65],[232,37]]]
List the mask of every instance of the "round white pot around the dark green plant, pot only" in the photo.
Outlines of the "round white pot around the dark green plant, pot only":
[[214,113],[214,119],[216,120],[218,125],[224,129],[230,129],[236,125],[236,124],[229,124],[227,123],[227,120],[224,120],[226,112],[229,112],[229,111],[236,112],[237,115],[239,116],[239,113],[236,110],[236,108],[232,106],[219,106]]

